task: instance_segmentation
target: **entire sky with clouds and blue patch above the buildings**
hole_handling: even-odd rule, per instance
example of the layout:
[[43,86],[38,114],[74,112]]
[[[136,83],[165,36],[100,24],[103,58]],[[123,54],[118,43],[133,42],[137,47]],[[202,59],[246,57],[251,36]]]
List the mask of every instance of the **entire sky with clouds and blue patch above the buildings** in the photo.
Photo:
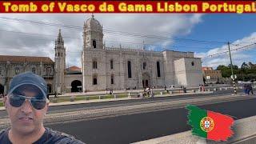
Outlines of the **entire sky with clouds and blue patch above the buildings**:
[[[91,14],[0,14],[0,55],[50,57],[58,30],[66,67],[81,67],[82,26]],[[192,51],[202,66],[256,63],[254,14],[94,14],[106,46]],[[238,49],[238,50],[237,50]]]

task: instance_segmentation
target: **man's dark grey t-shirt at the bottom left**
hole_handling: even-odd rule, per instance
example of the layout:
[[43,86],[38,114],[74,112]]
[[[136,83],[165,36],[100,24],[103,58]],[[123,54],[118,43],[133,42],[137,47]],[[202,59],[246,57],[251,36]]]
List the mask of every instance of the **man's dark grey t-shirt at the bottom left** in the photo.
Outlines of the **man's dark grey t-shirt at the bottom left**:
[[[0,143],[2,144],[12,144],[8,137],[8,132],[10,129],[0,131]],[[84,144],[69,134],[61,133],[58,131],[51,130],[46,127],[46,131],[42,134],[42,137],[33,144]]]

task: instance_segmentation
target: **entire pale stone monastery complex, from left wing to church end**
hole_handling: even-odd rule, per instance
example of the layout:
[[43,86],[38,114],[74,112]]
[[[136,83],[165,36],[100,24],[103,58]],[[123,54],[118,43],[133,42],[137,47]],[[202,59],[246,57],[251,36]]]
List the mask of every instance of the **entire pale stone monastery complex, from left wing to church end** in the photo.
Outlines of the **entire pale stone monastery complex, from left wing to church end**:
[[0,56],[0,85],[5,86],[5,92],[14,75],[25,71],[45,78],[50,93],[203,83],[201,59],[194,58],[193,52],[106,47],[102,25],[94,16],[84,23],[82,70],[66,69],[66,48],[61,31],[54,50],[54,62],[46,57]]

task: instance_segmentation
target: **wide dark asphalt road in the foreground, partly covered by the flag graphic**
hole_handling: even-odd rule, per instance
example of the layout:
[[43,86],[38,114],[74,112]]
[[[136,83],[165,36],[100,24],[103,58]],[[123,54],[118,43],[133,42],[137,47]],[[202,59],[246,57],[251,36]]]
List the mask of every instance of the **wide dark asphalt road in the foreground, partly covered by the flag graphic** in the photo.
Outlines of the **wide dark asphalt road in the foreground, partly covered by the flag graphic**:
[[[256,98],[200,106],[235,119],[256,115]],[[88,143],[130,143],[190,130],[184,108],[48,125]]]

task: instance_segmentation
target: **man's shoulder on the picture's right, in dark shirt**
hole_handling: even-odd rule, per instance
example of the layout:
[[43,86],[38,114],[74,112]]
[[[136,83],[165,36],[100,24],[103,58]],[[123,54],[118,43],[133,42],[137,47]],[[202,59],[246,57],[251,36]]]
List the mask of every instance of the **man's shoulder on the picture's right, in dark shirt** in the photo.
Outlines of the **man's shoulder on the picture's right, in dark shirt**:
[[77,139],[75,139],[70,134],[65,134],[56,130],[52,130],[50,128],[46,127],[47,135],[50,136],[50,141],[54,143],[66,143],[66,144],[84,144],[84,142],[81,142]]

